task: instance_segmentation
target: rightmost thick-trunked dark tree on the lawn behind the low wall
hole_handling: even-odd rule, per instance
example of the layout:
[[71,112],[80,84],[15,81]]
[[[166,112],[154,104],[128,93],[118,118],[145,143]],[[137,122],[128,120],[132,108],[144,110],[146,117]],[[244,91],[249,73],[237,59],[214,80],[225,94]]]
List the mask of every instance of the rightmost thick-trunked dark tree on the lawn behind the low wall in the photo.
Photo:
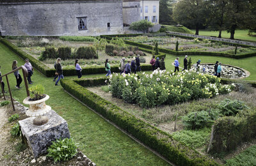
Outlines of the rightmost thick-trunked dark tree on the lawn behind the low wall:
[[246,22],[250,20],[250,3],[244,0],[228,0],[227,1],[227,20],[225,26],[227,32],[230,33],[230,39],[234,39],[237,27],[246,28]]

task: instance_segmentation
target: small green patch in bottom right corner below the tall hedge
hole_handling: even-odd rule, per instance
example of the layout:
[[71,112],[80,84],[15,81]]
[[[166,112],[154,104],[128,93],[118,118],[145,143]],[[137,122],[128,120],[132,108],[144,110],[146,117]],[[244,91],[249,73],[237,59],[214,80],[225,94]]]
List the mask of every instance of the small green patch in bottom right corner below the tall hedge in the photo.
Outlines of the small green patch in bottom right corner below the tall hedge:
[[256,146],[249,147],[239,155],[227,160],[228,166],[250,166],[256,164]]

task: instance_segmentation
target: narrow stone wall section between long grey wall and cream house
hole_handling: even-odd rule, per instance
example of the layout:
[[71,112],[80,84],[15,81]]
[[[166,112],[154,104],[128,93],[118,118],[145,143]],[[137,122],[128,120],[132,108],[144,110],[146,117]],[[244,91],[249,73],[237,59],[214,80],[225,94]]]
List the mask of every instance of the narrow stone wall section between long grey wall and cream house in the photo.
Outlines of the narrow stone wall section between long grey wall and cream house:
[[140,20],[140,1],[123,2],[123,20],[129,25]]

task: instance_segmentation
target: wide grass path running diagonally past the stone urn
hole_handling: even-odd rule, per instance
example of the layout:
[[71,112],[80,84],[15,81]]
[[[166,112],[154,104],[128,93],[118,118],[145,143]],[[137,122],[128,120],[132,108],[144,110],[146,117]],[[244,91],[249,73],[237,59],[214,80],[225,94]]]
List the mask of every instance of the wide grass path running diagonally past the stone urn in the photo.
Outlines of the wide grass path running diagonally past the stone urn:
[[[25,63],[15,53],[0,43],[2,74],[12,70],[13,60],[18,61],[18,66]],[[21,71],[20,74],[22,74]],[[104,74],[89,75],[87,77],[100,76],[104,76]],[[26,98],[24,82],[21,84],[22,89],[16,89],[14,75],[11,74],[8,76],[8,79],[13,96],[16,96],[22,102]],[[6,79],[3,80],[6,84],[5,90],[7,91]],[[97,165],[152,165],[152,163],[168,165],[168,163],[154,155],[154,153],[107,123],[92,112],[92,110],[74,100],[74,98],[63,91],[61,86],[54,86],[52,78],[47,78],[38,71],[35,71],[31,80],[34,81],[34,84],[44,85],[45,93],[50,96],[50,99],[46,102],[47,105],[50,105],[53,110],[58,112],[67,121],[71,137],[79,143],[79,149]]]

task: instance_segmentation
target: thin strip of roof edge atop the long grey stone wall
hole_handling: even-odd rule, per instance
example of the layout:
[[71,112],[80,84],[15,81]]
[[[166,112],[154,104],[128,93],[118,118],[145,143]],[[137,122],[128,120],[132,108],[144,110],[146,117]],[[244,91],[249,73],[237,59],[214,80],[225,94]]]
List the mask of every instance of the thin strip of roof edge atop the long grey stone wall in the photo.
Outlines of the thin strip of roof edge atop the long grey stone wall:
[[0,0],[0,3],[54,3],[54,2],[117,2],[122,0]]

